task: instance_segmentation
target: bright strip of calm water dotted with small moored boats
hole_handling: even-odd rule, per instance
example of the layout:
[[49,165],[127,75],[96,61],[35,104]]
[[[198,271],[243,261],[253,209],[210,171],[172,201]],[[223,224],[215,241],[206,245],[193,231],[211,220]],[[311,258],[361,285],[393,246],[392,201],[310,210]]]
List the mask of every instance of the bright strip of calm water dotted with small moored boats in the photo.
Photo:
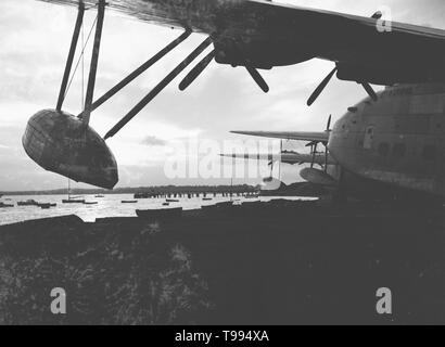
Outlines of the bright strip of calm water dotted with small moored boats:
[[[17,202],[35,200],[38,203],[55,203],[56,207],[51,209],[41,209],[38,206],[17,206]],[[144,198],[139,200],[136,204],[122,204],[122,201],[132,201],[132,194],[110,194],[104,197],[94,197],[94,195],[82,195],[81,198],[87,202],[98,202],[97,205],[82,204],[62,204],[62,200],[66,195],[21,195],[21,196],[3,196],[0,202],[5,204],[14,204],[12,208],[0,208],[0,226],[14,222],[25,221],[29,219],[40,219],[56,216],[77,215],[84,221],[94,221],[96,218],[104,217],[135,217],[136,209],[155,209],[168,208],[162,204],[165,198]],[[259,197],[256,200],[245,200],[243,197],[233,197],[236,203],[244,201],[270,201],[279,197]],[[285,197],[288,200],[302,200],[302,197]],[[229,201],[229,197],[212,197],[212,201],[203,201],[202,197],[178,198],[179,203],[170,203],[169,207],[182,207],[183,209],[195,209],[203,205],[214,205],[219,202]]]

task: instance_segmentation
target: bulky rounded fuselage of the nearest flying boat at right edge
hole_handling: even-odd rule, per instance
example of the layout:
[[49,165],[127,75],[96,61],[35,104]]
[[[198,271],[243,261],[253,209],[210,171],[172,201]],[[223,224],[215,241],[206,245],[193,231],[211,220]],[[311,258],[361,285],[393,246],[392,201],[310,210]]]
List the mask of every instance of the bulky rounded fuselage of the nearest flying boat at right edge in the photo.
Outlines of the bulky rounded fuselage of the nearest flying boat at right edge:
[[389,87],[377,102],[361,101],[335,124],[328,146],[357,179],[444,197],[445,85]]

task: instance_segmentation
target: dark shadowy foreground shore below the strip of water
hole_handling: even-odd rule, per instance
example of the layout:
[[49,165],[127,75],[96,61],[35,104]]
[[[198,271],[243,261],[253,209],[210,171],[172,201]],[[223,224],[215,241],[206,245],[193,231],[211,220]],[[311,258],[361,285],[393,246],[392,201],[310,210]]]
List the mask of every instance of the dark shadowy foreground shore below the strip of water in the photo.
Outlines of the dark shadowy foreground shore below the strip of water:
[[[0,323],[445,323],[442,215],[278,203],[1,227]],[[65,316],[50,312],[53,287]],[[376,312],[379,287],[392,316]]]

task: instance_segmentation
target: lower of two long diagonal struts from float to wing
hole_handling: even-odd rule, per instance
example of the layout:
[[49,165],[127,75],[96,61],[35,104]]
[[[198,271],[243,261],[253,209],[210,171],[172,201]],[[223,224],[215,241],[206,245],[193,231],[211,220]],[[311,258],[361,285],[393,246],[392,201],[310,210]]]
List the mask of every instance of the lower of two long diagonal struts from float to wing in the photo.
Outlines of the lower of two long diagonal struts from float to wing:
[[126,116],[124,116],[106,134],[105,140],[114,137],[125,125],[141,112],[161,91],[163,91],[187,66],[189,66],[208,46],[212,38],[207,37],[189,56],[187,56],[171,73],[154,87]]

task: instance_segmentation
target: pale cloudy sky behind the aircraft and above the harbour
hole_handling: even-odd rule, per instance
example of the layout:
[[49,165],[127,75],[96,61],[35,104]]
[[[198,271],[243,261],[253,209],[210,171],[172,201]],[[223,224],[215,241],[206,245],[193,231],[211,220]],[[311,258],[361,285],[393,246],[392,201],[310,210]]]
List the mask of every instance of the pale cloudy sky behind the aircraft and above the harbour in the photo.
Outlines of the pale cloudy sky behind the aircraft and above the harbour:
[[[296,5],[370,16],[391,9],[394,21],[445,29],[443,0],[295,0]],[[87,12],[86,34],[96,13]],[[55,107],[76,18],[76,9],[35,0],[0,1],[0,191],[43,190],[66,187],[65,178],[47,172],[27,157],[22,136],[28,118]],[[96,95],[155,54],[180,35],[107,13],[101,46]],[[168,56],[149,69],[91,116],[90,125],[104,134],[148,91],[164,78],[202,40],[193,34]],[[87,57],[89,54],[87,54]],[[86,61],[86,65],[88,60]],[[164,184],[225,184],[227,178],[175,178],[165,174],[165,160],[178,143],[190,139],[238,141],[253,147],[256,141],[230,130],[325,130],[330,114],[339,119],[366,92],[356,83],[333,79],[315,105],[306,100],[332,69],[331,62],[313,60],[300,65],[262,72],[270,86],[265,94],[244,68],[215,62],[185,92],[178,90],[183,73],[116,137],[107,141],[119,165],[118,187]],[[71,87],[64,110],[81,107],[81,74]],[[247,142],[247,140],[250,140]],[[289,150],[302,144],[284,143]],[[217,159],[217,157],[215,158]],[[267,170],[267,163],[262,163]],[[283,181],[298,180],[298,167],[282,166]],[[259,179],[238,179],[255,183]],[[85,184],[73,187],[85,188]]]

